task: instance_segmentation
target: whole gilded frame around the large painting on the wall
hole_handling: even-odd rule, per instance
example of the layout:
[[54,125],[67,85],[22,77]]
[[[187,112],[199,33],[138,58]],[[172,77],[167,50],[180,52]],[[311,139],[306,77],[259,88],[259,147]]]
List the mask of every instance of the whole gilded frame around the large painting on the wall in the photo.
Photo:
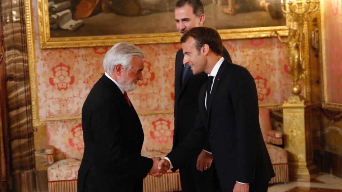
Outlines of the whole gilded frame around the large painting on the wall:
[[[222,2],[222,0],[218,1],[218,3],[220,2]],[[173,10],[173,6],[174,5],[172,5],[172,10]],[[215,5],[212,5],[212,6],[215,6]],[[205,9],[206,9],[206,6],[205,6]],[[141,33],[141,34],[119,34],[119,35],[96,35],[95,34],[93,36],[53,37],[53,34],[55,31],[50,29],[49,19],[51,17],[49,18],[48,0],[38,0],[38,14],[39,14],[41,49],[65,48],[65,47],[110,46],[120,41],[126,41],[126,42],[130,42],[133,44],[150,44],[150,43],[173,43],[173,42],[179,42],[180,40],[180,35],[178,32],[158,32],[158,33]],[[173,11],[169,10],[168,14],[170,17],[170,14],[173,15]],[[208,14],[209,13],[206,13],[206,16]],[[176,25],[173,19],[174,18],[170,19],[169,25],[172,25],[172,29],[176,30]],[[288,19],[286,18],[285,20],[286,20],[286,25],[284,26],[248,27],[247,25],[247,27],[245,28],[218,29],[218,31],[223,40],[266,38],[266,37],[271,37],[271,32],[274,30],[278,31],[280,35],[286,36],[288,32],[287,26],[289,24],[288,24]],[[210,21],[206,21],[206,22],[208,24],[210,23]],[[214,26],[207,25],[207,24],[206,26],[214,27]]]

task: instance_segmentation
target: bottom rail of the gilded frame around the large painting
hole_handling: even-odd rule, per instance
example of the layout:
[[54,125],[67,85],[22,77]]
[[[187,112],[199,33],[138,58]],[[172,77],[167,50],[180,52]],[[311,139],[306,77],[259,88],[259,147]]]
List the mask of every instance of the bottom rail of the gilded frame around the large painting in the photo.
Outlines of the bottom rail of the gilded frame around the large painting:
[[[281,36],[288,34],[288,27],[262,27],[246,29],[218,30],[223,40],[249,39],[271,37],[271,32],[277,30]],[[46,30],[40,29],[41,49],[65,48],[65,47],[93,47],[112,46],[117,42],[126,41],[133,44],[174,43],[180,41],[179,33],[149,33],[141,35],[117,35],[117,36],[93,36],[93,37],[70,37],[50,38]]]

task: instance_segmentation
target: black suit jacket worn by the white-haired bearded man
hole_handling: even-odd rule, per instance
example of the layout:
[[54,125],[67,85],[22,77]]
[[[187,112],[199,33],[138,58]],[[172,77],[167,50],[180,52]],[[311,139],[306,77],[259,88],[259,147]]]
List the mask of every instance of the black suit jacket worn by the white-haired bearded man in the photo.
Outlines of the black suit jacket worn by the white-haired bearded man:
[[134,108],[103,75],[82,108],[84,155],[78,192],[141,192],[153,160],[141,156],[144,133]]

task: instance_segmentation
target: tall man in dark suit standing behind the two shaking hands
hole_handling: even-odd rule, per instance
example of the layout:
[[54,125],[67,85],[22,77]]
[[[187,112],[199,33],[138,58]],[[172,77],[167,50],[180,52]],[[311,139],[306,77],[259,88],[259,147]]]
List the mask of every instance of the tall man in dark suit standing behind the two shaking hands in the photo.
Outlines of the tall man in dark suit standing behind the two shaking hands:
[[[177,30],[183,35],[193,27],[203,26],[205,22],[204,8],[200,0],[179,0],[175,6]],[[232,62],[227,50],[223,48],[223,57]],[[183,50],[176,54],[175,60],[175,103],[174,103],[174,135],[175,148],[194,128],[198,111],[198,93],[208,76],[205,72],[193,75],[188,65],[183,65]],[[206,151],[208,147],[203,146]],[[207,192],[212,189],[211,154],[199,148],[180,168],[183,192]],[[205,168],[207,167],[207,168]],[[203,170],[206,170],[203,172]]]

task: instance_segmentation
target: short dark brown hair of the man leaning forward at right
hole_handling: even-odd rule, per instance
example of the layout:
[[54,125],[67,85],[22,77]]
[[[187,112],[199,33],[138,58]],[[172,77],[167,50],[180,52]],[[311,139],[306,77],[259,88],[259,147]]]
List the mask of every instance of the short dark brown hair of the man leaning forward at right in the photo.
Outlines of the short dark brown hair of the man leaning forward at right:
[[215,29],[209,27],[194,27],[182,36],[181,43],[185,43],[189,37],[194,38],[196,41],[196,49],[198,52],[200,52],[204,44],[208,44],[215,55],[223,54],[222,39],[219,32]]

